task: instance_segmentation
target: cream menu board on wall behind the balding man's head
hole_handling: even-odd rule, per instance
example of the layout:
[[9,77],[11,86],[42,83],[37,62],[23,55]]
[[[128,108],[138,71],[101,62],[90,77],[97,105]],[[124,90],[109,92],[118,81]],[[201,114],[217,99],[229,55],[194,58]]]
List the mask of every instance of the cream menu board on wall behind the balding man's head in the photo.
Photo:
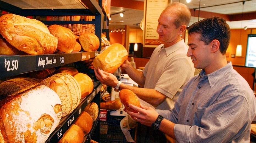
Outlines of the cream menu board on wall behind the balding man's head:
[[158,33],[156,32],[158,25],[158,18],[162,11],[168,5],[168,0],[147,0],[146,14],[145,14],[145,28],[144,28],[144,45],[148,47],[156,47],[162,44],[158,40]]

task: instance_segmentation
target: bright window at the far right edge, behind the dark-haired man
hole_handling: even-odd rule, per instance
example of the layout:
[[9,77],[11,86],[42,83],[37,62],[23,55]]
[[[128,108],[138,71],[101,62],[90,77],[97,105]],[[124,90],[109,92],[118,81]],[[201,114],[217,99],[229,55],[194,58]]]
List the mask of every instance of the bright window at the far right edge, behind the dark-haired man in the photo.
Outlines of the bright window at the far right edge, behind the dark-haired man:
[[245,66],[256,67],[256,34],[248,35]]

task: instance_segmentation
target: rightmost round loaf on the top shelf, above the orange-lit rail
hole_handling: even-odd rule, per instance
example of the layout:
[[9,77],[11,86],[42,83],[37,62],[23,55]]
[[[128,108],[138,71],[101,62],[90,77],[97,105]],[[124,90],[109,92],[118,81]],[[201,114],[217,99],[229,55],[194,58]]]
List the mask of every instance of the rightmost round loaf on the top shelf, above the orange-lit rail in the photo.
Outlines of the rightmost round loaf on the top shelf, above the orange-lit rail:
[[100,46],[100,40],[94,33],[82,32],[79,35],[79,42],[86,52],[97,51]]

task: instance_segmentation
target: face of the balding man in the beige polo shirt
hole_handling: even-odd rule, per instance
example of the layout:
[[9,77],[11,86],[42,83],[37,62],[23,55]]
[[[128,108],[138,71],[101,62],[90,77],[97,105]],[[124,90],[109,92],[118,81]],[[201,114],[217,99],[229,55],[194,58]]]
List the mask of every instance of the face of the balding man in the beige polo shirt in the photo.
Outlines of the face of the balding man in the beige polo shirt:
[[158,26],[156,32],[159,35],[159,40],[164,43],[170,43],[180,36],[178,29],[173,24],[174,16],[167,13],[161,13],[158,19]]

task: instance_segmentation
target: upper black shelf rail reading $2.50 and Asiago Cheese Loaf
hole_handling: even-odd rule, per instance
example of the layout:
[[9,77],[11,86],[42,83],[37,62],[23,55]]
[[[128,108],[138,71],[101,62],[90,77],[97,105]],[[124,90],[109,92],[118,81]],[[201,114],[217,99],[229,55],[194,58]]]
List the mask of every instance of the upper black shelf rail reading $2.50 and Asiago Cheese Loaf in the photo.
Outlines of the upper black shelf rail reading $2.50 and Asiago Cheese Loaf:
[[0,79],[32,71],[63,66],[69,63],[89,60],[99,54],[95,52],[74,52],[46,55],[0,56]]

